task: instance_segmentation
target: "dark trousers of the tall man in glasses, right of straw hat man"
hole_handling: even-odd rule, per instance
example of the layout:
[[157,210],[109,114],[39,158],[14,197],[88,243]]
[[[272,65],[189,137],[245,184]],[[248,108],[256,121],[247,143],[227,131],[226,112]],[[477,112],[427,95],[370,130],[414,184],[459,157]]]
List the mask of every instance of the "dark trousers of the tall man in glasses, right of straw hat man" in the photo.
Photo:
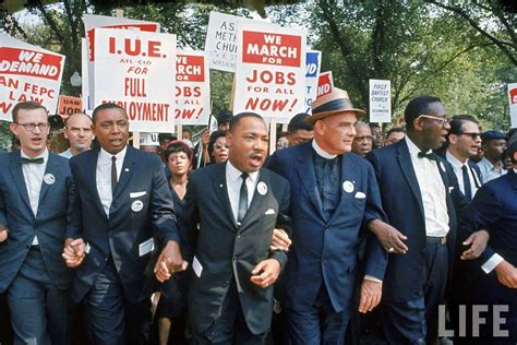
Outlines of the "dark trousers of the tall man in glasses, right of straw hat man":
[[435,344],[437,341],[438,305],[443,304],[448,274],[447,246],[428,240],[425,259],[422,295],[404,302],[383,304],[383,329],[389,344]]

